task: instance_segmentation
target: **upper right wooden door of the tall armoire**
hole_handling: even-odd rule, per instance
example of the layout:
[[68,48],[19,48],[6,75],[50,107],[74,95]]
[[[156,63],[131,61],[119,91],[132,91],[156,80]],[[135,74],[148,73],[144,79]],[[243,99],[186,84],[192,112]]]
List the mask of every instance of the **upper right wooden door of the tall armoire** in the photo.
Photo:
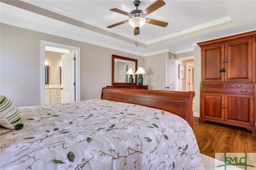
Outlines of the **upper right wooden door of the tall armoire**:
[[252,81],[252,39],[225,44],[225,81]]

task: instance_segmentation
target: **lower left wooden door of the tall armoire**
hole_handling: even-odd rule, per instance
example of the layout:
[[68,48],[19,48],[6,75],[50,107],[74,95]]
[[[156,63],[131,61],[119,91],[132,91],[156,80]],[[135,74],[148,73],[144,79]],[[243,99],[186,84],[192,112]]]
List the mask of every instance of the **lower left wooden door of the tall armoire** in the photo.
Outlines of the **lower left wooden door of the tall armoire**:
[[216,121],[224,121],[224,95],[202,93],[201,117]]

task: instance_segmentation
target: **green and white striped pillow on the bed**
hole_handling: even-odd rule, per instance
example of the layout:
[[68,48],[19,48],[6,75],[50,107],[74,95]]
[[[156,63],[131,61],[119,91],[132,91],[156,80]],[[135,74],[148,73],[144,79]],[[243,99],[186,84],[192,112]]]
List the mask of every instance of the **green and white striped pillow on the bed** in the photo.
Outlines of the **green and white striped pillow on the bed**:
[[0,125],[5,128],[15,129],[20,123],[18,109],[7,97],[0,95]]

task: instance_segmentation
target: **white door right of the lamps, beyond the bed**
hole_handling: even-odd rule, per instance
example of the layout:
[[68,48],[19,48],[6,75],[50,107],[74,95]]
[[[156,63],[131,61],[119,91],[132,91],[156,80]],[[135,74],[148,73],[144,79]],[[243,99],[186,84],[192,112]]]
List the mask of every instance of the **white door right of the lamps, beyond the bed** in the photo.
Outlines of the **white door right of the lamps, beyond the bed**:
[[166,91],[178,91],[178,61],[166,58]]

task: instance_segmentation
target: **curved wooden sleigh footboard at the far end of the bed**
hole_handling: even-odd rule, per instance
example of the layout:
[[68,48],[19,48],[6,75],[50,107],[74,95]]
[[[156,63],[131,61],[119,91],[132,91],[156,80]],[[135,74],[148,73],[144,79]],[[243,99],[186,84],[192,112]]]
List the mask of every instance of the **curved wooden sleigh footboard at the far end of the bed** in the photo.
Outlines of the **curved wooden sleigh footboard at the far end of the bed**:
[[100,99],[133,103],[174,113],[193,128],[192,103],[194,91],[159,91],[103,87]]

